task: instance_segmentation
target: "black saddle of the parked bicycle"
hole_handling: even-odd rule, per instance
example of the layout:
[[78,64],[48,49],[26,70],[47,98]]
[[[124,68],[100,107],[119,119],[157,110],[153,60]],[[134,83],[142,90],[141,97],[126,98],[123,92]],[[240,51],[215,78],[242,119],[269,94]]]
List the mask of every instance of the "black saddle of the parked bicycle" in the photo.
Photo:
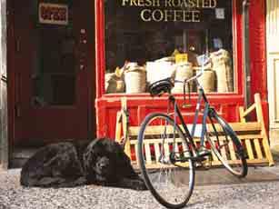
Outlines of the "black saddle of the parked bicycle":
[[174,83],[171,78],[166,78],[160,81],[156,81],[153,84],[149,85],[149,93],[152,96],[163,95],[164,93],[171,93]]

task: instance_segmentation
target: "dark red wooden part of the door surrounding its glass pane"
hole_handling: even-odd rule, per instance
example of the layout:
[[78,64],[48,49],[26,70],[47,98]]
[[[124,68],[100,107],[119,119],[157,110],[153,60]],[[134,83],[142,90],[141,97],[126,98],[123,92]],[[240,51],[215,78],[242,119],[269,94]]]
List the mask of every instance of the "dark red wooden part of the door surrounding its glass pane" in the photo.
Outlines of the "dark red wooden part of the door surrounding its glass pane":
[[[35,19],[30,19],[30,14],[33,14],[34,2],[31,0],[21,2],[12,1],[14,4],[11,8],[14,10],[15,18],[11,24],[15,28],[15,35],[9,36],[8,47],[11,51],[8,57],[8,69],[9,79],[11,76],[12,82],[9,83],[9,121],[10,124],[9,136],[11,136],[12,143],[23,144],[25,140],[38,140],[40,143],[49,143],[55,141],[61,141],[65,138],[84,139],[88,136],[88,106],[94,106],[92,98],[89,100],[88,89],[89,86],[95,85],[94,71],[94,59],[85,59],[85,70],[81,71],[76,69],[77,81],[76,81],[76,102],[75,106],[60,106],[60,107],[40,107],[34,108],[31,104],[31,97],[33,95],[33,83],[32,83],[32,69],[33,61],[35,59],[35,44],[32,39],[35,35]],[[92,5],[90,5],[92,4]],[[94,3],[78,3],[75,4],[74,13],[74,27],[75,37],[78,41],[76,47],[77,61],[82,57],[82,53],[86,55],[94,55],[95,45],[94,37],[94,25],[92,25],[92,19],[94,19]],[[88,45],[83,45],[83,42],[79,40],[81,35],[81,29],[85,29],[87,35]],[[16,52],[15,43],[20,39],[20,51]],[[14,45],[14,47],[12,47]],[[89,58],[88,58],[89,59]],[[78,62],[76,67],[79,67]],[[92,72],[90,72],[92,71]],[[92,77],[94,79],[92,79]],[[89,83],[90,81],[90,83]],[[95,96],[95,93],[92,94]],[[11,98],[14,97],[14,98]],[[91,101],[91,104],[90,104]],[[15,104],[19,103],[21,108],[21,114],[15,115],[13,110]],[[91,111],[93,118],[95,118],[95,112]],[[92,115],[91,115],[92,116]],[[92,120],[91,125],[95,126],[95,120]],[[94,127],[93,127],[94,129]]]

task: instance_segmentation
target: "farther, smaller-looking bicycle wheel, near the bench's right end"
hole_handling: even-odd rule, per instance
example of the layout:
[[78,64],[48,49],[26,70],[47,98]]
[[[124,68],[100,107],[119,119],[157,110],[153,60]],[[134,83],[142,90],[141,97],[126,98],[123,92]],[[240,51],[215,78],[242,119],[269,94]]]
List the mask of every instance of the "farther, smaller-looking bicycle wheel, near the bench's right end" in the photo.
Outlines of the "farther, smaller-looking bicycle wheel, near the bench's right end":
[[[207,137],[207,141],[215,156],[231,174],[240,178],[246,176],[248,166],[244,146],[241,144],[234,130],[213,109],[209,114],[209,119],[209,125],[212,125],[214,131],[211,134],[207,132],[206,136],[209,136]],[[216,124],[220,125],[219,130],[217,130]]]

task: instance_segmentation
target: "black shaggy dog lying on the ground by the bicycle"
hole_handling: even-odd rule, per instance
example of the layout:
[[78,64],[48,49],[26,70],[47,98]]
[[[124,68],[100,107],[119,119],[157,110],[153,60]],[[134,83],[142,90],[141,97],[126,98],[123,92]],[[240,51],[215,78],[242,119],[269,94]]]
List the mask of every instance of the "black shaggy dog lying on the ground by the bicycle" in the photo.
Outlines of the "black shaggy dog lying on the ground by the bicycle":
[[46,145],[25,163],[20,183],[40,187],[102,184],[146,189],[122,146],[110,139],[95,139],[90,144]]

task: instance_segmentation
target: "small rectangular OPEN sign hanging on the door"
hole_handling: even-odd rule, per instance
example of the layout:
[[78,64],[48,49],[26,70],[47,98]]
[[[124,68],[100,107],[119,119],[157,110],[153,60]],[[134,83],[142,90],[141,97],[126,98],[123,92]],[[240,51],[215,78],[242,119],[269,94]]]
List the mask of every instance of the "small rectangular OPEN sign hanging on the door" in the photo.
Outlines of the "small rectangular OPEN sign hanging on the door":
[[68,24],[68,6],[49,3],[39,4],[39,23],[51,25]]

